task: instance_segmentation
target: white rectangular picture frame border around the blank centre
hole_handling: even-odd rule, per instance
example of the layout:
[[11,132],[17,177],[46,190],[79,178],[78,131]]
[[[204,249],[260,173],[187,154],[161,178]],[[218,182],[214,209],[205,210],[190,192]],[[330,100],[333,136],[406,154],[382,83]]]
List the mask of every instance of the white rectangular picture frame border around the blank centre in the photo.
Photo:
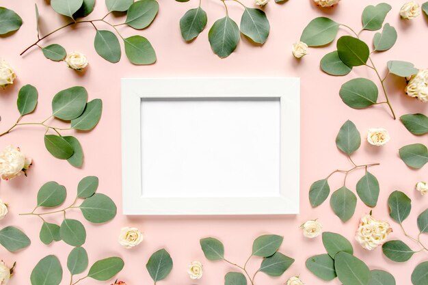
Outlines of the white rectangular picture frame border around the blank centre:
[[[291,215],[299,213],[300,83],[298,78],[129,78],[122,79],[121,85],[124,215]],[[180,98],[185,100],[234,98],[238,101],[254,98],[260,102],[265,99],[278,99],[278,195],[265,197],[262,193],[263,189],[260,189],[260,195],[243,197],[216,195],[199,197],[197,194],[191,197],[189,193],[185,197],[144,195],[142,135],[145,131],[142,130],[142,106],[145,100],[168,101],[168,99]],[[152,118],[161,118],[154,114],[155,117]],[[152,134],[156,136],[156,133]],[[151,183],[156,185],[156,181]]]

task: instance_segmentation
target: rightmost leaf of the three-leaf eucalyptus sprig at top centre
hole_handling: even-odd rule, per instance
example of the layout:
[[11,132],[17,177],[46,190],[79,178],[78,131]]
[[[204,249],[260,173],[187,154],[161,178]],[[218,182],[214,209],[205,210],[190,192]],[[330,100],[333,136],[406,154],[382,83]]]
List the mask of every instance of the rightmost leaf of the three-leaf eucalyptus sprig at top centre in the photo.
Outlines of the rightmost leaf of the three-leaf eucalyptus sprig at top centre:
[[241,17],[241,33],[248,36],[253,42],[264,44],[269,36],[270,28],[265,12],[244,7]]

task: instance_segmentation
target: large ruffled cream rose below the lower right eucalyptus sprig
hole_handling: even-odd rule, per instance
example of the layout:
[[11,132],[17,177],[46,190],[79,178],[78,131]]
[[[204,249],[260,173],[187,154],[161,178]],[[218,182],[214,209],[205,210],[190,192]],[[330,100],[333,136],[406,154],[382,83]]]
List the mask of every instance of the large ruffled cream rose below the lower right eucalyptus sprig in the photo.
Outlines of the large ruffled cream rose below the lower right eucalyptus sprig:
[[360,220],[360,226],[356,233],[356,240],[362,248],[372,250],[383,245],[392,228],[386,221],[378,221],[371,215],[365,215]]

